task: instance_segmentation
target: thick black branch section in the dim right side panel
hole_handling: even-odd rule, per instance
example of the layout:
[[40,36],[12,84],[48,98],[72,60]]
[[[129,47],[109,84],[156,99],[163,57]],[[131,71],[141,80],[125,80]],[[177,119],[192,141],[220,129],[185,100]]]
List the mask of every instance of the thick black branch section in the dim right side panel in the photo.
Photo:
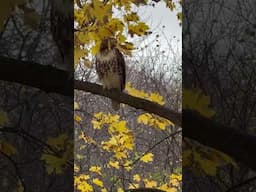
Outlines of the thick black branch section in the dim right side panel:
[[222,151],[256,171],[256,136],[224,126],[196,112],[182,112],[182,134],[201,144]]

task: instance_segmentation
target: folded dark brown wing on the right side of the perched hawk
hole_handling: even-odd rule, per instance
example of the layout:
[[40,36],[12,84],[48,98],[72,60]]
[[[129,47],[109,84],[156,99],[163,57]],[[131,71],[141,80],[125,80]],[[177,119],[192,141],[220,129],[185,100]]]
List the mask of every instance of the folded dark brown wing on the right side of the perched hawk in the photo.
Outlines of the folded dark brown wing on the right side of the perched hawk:
[[118,72],[121,80],[121,91],[123,91],[126,83],[125,60],[123,54],[117,48],[115,48],[115,55],[120,68]]

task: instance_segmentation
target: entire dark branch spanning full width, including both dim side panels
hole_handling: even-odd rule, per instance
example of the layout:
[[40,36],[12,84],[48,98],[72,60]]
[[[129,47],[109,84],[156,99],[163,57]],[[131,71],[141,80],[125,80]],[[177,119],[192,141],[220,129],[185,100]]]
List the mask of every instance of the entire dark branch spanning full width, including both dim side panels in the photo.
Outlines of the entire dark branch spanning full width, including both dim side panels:
[[[0,64],[1,80],[36,87],[46,92],[73,96],[73,81],[68,80],[68,72],[4,57],[0,57]],[[102,86],[97,84],[77,80],[74,83],[75,89],[109,97],[132,107],[144,109],[181,126],[181,114],[161,105],[116,90],[103,90]],[[183,111],[182,118],[183,136],[220,150],[256,171],[256,136],[215,123],[213,120],[189,110]]]

